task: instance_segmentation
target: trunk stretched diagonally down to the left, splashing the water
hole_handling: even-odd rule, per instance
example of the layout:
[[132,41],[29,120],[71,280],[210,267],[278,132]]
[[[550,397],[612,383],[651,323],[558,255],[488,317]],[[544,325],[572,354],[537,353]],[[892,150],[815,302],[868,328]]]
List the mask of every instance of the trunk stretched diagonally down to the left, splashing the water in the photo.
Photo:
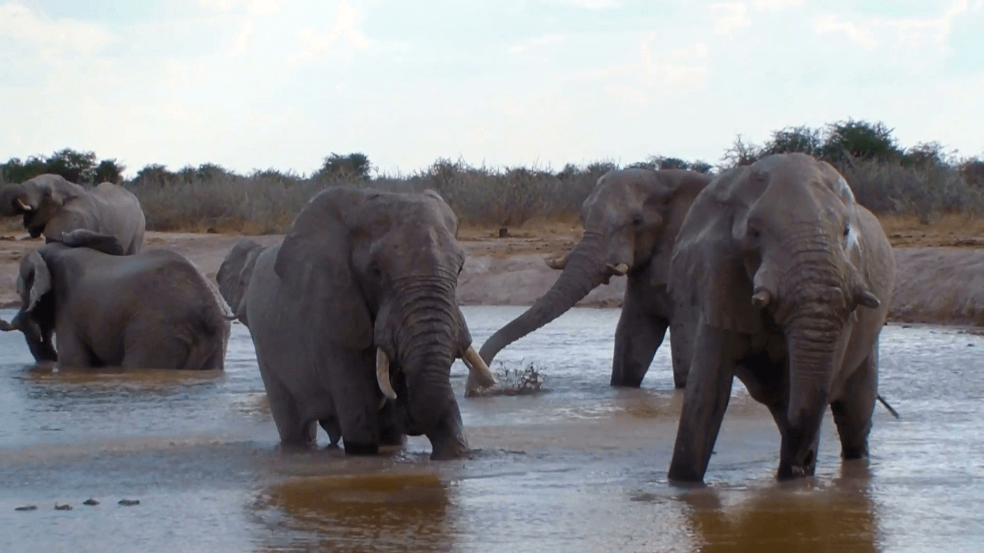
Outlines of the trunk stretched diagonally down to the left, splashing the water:
[[601,244],[600,234],[585,232],[582,241],[568,255],[564,272],[547,293],[485,340],[479,351],[482,359],[491,364],[504,347],[560,317],[604,282],[608,275],[601,256]]

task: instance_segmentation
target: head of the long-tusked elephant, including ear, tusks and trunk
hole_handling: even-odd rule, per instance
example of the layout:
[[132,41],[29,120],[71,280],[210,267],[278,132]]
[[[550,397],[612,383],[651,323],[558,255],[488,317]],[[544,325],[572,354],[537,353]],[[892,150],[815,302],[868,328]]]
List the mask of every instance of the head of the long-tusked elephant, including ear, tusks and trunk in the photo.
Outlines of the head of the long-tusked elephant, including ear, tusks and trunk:
[[430,436],[457,412],[456,358],[481,385],[495,383],[458,306],[457,233],[458,217],[436,192],[338,187],[304,207],[277,252],[274,271],[311,306],[304,324],[316,336],[375,349],[378,386],[389,399],[400,392],[410,435]]

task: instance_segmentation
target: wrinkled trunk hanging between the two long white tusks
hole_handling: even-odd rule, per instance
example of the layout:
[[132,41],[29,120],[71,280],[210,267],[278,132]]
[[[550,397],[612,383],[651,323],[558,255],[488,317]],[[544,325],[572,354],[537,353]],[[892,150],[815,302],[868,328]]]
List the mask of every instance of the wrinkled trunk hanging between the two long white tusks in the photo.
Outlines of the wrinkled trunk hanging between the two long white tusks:
[[428,434],[454,401],[451,365],[458,355],[458,305],[454,283],[421,278],[403,287],[398,311],[397,362],[406,380],[407,434]]

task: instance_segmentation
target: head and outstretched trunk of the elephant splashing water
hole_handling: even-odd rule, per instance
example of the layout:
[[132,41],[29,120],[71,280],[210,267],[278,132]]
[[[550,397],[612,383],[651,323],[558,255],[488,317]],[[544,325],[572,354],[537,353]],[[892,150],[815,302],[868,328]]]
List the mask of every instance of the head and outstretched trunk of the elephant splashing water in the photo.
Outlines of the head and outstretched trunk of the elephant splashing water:
[[581,242],[564,258],[546,262],[563,273],[529,309],[485,341],[480,351],[485,362],[566,313],[612,276],[665,284],[677,231],[709,181],[703,173],[683,169],[614,169],[602,175],[584,200]]

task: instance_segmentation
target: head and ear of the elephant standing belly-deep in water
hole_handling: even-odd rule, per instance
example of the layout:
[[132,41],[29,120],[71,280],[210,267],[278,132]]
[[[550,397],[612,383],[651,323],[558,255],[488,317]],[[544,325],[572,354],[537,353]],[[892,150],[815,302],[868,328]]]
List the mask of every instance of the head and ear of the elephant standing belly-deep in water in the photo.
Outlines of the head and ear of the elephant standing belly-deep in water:
[[56,317],[55,286],[45,257],[64,246],[89,247],[109,255],[123,255],[123,247],[114,236],[80,228],[63,234],[59,241],[37,248],[21,260],[20,273],[17,276],[21,309],[10,323],[0,320],[0,330],[24,333],[31,354],[37,361],[58,360],[58,353],[51,340]]

